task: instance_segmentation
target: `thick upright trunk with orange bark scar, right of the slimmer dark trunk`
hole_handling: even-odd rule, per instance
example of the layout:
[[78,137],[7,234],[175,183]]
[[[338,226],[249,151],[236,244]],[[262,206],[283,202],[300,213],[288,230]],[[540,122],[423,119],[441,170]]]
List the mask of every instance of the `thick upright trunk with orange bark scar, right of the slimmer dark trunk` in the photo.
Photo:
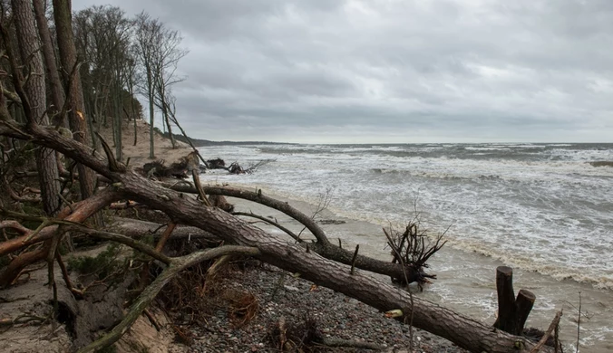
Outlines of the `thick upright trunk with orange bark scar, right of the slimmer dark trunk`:
[[[83,143],[85,146],[90,146],[88,137],[87,119],[85,115],[85,106],[83,103],[83,89],[81,87],[81,75],[76,67],[77,57],[76,48],[73,41],[73,25],[70,0],[54,0],[54,20],[55,30],[57,32],[57,44],[60,49],[60,59],[62,63],[63,81],[69,88],[68,100],[68,121],[70,128],[73,130],[73,137],[76,141]],[[73,70],[77,72],[73,73]],[[71,81],[71,74],[73,80]],[[95,175],[93,171],[83,164],[77,164],[79,170],[79,185],[81,187],[81,197],[86,199],[93,194],[95,183]],[[99,223],[100,220],[97,222]]]

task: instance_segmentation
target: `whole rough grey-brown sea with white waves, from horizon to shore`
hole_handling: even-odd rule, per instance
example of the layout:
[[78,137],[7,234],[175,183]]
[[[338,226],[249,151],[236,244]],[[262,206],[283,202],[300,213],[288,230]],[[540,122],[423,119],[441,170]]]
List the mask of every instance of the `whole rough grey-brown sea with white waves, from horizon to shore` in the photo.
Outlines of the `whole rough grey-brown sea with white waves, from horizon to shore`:
[[317,205],[327,196],[327,209],[349,224],[328,236],[368,245],[372,256],[390,259],[382,227],[402,230],[417,219],[429,234],[444,234],[427,269],[437,280],[416,295],[493,323],[495,269],[511,266],[515,291],[537,297],[528,326],[546,329],[563,310],[565,348],[574,352],[579,341],[582,352],[613,351],[613,163],[593,163],[613,161],[613,144],[254,144],[200,152],[244,168],[266,161],[251,174],[215,175],[215,183],[262,188],[290,203]]

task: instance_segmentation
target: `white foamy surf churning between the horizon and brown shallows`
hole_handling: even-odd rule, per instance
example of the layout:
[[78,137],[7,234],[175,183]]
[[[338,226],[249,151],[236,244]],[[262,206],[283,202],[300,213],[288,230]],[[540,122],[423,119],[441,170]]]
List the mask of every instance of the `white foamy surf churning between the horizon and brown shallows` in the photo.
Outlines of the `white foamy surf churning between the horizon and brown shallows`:
[[[498,146],[502,145],[494,148]],[[417,147],[423,148],[432,147]],[[268,153],[288,149],[308,153]],[[555,278],[613,288],[613,270],[608,265],[613,263],[613,252],[598,252],[603,246],[613,248],[609,201],[613,191],[601,179],[613,177],[613,168],[582,162],[586,155],[602,157],[610,151],[553,149],[552,155],[565,153],[570,160],[551,162],[362,153],[372,149],[383,148],[274,145],[208,148],[207,152],[239,162],[276,158],[258,173],[241,178],[305,202],[316,202],[319,193],[332,187],[334,211],[375,224],[403,224],[419,199],[418,208],[442,224],[440,229],[454,224],[452,231],[458,235],[452,239],[453,246]],[[234,178],[218,176],[220,182]],[[598,224],[609,228],[598,230]]]

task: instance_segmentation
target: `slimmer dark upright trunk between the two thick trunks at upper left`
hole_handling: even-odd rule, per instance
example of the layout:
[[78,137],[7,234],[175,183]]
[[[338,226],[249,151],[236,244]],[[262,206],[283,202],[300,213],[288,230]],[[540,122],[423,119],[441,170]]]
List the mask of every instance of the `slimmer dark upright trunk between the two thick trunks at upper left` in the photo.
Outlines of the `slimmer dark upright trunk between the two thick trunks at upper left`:
[[51,33],[49,33],[49,24],[47,24],[47,17],[44,13],[43,0],[34,0],[33,4],[36,24],[38,24],[38,34],[40,35],[41,42],[43,44],[43,57],[47,73],[47,83],[51,87],[51,101],[54,103],[54,110],[51,110],[54,114],[54,125],[67,127],[68,125],[64,117],[61,117],[58,114],[59,111],[62,110],[64,100],[62,81],[60,81],[60,74],[57,71],[54,44],[51,39]]

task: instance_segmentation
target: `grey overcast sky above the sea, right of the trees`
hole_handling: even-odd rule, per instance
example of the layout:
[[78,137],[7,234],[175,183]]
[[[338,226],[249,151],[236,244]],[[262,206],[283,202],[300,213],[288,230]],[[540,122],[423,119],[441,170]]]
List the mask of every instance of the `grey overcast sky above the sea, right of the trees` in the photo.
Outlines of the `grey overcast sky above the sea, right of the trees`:
[[613,142],[613,0],[75,0],[183,36],[194,138]]

